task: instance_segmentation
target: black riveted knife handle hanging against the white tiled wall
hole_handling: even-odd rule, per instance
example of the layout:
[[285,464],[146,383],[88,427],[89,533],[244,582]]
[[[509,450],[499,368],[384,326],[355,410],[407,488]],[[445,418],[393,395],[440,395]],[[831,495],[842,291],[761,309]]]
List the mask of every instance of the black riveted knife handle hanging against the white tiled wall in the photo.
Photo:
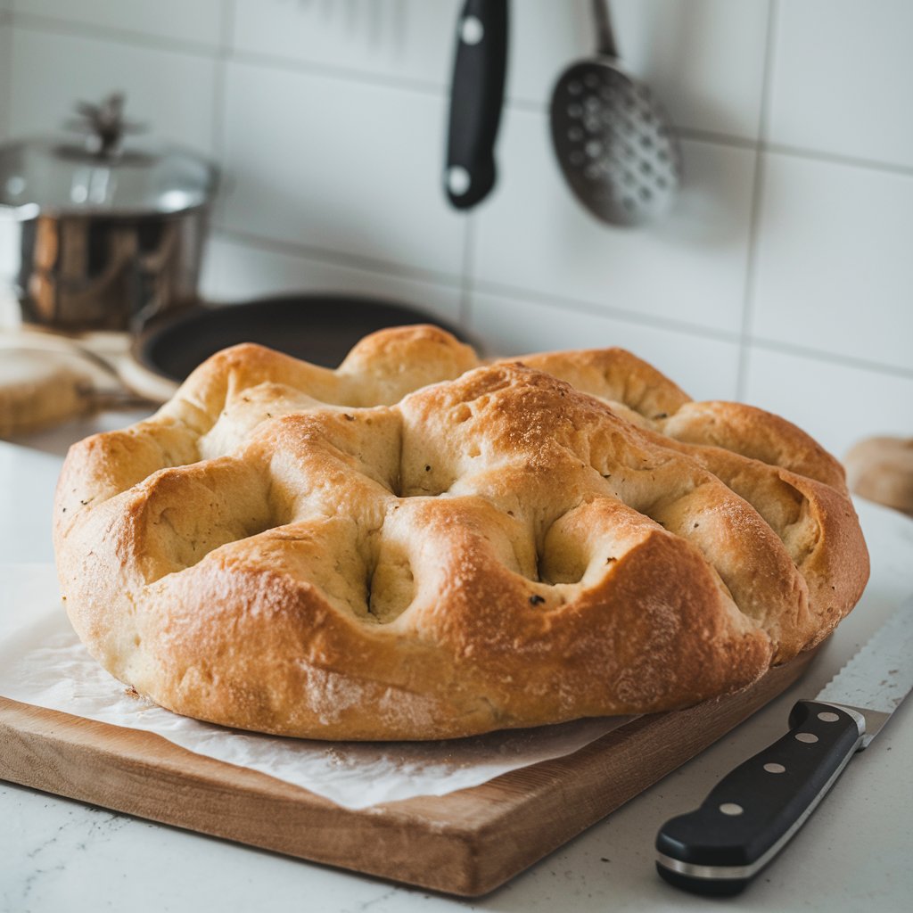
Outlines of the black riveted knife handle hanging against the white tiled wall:
[[466,0],[456,22],[456,60],[444,184],[468,209],[495,184],[495,139],[504,101],[508,0]]

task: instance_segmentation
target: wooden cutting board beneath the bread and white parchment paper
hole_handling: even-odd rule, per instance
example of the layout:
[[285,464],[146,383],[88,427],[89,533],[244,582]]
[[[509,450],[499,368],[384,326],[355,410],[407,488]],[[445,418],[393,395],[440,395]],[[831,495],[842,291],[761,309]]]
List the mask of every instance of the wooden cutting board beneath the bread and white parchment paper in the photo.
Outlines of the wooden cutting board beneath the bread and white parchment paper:
[[446,796],[351,811],[160,736],[0,698],[0,778],[243,844],[467,897],[485,894],[704,750],[789,687],[640,717],[576,753]]

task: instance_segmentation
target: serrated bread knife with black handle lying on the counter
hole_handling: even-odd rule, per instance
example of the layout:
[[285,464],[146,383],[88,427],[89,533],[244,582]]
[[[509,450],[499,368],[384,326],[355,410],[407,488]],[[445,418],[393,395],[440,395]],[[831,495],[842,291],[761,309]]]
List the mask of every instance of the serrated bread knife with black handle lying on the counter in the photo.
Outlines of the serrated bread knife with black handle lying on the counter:
[[656,836],[656,869],[692,893],[738,894],[782,850],[913,687],[913,599],[883,624],[790,731],[724,777]]

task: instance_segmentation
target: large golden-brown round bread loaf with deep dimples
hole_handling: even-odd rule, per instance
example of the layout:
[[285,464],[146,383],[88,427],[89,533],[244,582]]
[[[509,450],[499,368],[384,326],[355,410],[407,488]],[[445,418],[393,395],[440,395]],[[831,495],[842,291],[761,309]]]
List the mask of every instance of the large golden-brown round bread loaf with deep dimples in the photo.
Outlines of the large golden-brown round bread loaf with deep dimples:
[[333,372],[220,352],[71,448],[55,548],[114,676],[198,719],[439,739],[680,708],[819,643],[866,583],[843,470],[618,349]]

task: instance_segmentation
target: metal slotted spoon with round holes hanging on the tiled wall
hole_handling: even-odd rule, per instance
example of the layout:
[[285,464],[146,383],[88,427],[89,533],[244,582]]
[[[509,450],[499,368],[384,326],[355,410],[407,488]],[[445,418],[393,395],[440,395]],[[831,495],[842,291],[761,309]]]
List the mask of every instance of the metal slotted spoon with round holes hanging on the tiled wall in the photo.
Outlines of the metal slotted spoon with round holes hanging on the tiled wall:
[[681,153],[665,110],[619,67],[605,0],[593,0],[597,53],[561,74],[551,94],[551,140],[574,195],[597,218],[638,226],[665,215]]

